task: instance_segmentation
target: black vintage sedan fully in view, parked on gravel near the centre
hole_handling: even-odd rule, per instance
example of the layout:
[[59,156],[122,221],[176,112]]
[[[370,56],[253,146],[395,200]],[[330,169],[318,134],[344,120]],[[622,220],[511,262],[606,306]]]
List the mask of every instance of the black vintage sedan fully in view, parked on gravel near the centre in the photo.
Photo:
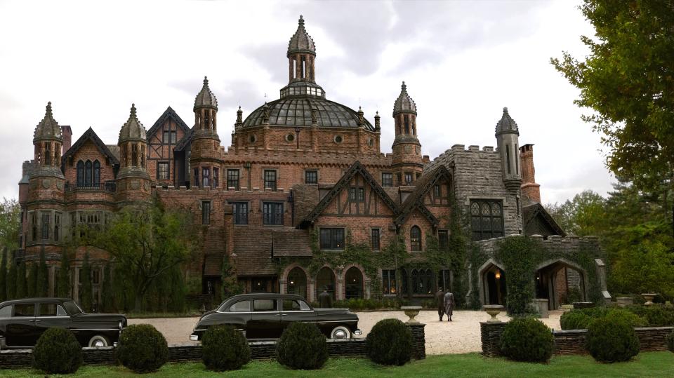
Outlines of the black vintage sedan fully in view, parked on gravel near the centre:
[[201,340],[211,325],[233,325],[248,339],[275,339],[292,322],[315,323],[331,339],[362,335],[358,316],[349,309],[313,309],[299,295],[260,293],[235,295],[204,313],[190,340]]

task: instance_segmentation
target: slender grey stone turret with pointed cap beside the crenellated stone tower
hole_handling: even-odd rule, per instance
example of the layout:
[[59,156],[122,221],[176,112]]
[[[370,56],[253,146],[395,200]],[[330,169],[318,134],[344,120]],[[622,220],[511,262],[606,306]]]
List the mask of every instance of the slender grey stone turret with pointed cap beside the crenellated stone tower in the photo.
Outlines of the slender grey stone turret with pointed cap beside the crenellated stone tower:
[[517,192],[522,184],[520,174],[520,151],[517,144],[520,139],[520,130],[517,123],[508,114],[508,108],[503,108],[503,116],[496,123],[496,145],[501,154],[501,170],[503,171],[503,184],[509,191]]

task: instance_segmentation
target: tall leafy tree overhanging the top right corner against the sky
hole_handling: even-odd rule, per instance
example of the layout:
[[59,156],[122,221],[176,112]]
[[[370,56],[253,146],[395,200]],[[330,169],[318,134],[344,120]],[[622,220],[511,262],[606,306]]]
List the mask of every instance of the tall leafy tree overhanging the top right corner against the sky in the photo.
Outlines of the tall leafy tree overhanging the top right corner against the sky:
[[581,90],[576,104],[609,147],[609,169],[660,192],[674,235],[674,3],[585,0],[580,9],[595,27],[581,36],[590,53],[551,62]]

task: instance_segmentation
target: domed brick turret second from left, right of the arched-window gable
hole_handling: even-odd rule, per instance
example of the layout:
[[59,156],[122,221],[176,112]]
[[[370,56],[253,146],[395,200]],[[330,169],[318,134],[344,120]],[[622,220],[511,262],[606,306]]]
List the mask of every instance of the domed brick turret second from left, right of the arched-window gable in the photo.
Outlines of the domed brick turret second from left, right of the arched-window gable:
[[136,104],[119,130],[119,173],[117,194],[120,201],[147,201],[150,175],[147,175],[147,136],[136,116]]

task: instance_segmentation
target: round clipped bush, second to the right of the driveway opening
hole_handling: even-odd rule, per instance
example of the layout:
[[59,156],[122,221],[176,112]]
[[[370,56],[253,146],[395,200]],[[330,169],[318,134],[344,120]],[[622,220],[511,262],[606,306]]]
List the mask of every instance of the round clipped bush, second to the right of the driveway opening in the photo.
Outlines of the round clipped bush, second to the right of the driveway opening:
[[604,363],[628,361],[639,353],[639,339],[633,326],[619,316],[592,320],[585,346],[595,360]]

